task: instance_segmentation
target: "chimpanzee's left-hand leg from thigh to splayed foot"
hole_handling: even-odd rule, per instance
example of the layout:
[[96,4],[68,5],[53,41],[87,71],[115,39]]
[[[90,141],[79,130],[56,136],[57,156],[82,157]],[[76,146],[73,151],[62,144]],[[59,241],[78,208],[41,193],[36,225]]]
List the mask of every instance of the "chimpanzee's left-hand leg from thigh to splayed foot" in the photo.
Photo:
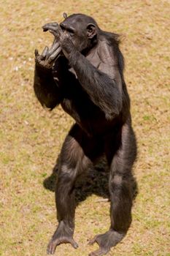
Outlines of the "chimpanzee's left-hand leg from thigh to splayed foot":
[[[59,161],[58,182],[55,191],[58,227],[47,246],[47,254],[53,254],[58,244],[70,243],[77,248],[74,234],[74,183],[92,164],[85,152],[93,154],[93,139],[82,132],[77,124],[72,127],[63,143]],[[90,156],[90,155],[89,155]]]

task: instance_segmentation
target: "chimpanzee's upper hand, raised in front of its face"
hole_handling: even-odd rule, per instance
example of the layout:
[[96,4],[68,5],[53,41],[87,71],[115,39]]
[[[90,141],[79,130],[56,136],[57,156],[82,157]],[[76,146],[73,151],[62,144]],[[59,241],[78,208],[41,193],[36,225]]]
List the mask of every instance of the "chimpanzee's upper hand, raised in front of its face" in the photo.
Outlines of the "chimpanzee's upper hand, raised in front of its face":
[[66,58],[68,59],[69,53],[72,53],[72,51],[75,49],[68,32],[62,31],[58,23],[47,23],[42,27],[42,29],[44,31],[50,31],[50,33],[54,35],[55,41],[59,43],[64,56],[66,56]]

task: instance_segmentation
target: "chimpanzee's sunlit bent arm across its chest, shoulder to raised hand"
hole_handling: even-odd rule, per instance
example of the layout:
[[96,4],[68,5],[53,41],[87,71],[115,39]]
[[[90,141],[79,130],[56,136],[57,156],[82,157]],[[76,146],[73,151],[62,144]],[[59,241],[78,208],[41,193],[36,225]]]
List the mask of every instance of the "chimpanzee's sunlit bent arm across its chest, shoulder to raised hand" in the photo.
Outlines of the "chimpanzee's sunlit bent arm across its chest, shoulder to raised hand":
[[[123,108],[122,81],[112,46],[105,41],[96,46],[97,50],[91,48],[90,54],[94,59],[98,53],[101,59],[101,67],[97,68],[77,50],[70,35],[66,31],[61,31],[58,23],[47,23],[43,29],[49,30],[58,39],[63,54],[74,68],[82,88],[88,93],[90,99],[104,111],[107,118],[118,115]],[[75,43],[77,37],[76,35],[74,37]]]

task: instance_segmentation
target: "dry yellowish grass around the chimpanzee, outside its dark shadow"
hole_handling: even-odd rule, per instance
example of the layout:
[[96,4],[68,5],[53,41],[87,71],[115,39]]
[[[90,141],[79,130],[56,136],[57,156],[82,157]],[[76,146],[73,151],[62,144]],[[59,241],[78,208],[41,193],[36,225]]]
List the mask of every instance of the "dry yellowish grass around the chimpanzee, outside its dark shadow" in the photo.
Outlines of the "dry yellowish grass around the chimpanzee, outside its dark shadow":
[[[45,255],[55,230],[54,193],[45,189],[72,119],[49,113],[34,97],[34,49],[52,37],[41,26],[62,13],[83,12],[101,29],[123,34],[125,80],[139,156],[139,195],[125,239],[109,255],[170,255],[169,249],[169,1],[1,1],[0,15],[0,255]],[[44,184],[44,186],[43,186]],[[53,189],[51,189],[53,190]],[[87,239],[109,227],[109,203],[89,195],[76,211],[80,248],[56,255],[88,255]]]

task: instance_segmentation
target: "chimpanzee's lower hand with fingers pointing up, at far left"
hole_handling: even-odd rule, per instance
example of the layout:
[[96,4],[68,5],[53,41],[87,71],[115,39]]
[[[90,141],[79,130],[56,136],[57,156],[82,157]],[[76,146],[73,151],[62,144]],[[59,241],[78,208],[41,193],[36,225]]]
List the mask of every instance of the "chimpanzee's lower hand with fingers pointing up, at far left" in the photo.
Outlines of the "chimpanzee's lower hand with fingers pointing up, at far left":
[[52,47],[49,49],[46,46],[42,55],[39,55],[38,50],[35,50],[36,65],[45,69],[50,69],[60,53],[61,47],[59,43],[54,40]]

